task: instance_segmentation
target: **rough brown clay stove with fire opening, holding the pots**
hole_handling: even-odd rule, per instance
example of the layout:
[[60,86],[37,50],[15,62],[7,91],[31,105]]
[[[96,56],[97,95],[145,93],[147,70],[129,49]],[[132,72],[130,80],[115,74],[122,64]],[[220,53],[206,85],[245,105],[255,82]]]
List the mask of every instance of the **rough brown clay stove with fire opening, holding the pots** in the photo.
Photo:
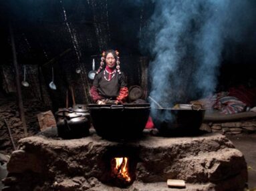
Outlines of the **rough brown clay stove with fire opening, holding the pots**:
[[[108,184],[109,159],[115,154],[135,161],[127,188]],[[146,134],[130,142],[110,142],[94,132],[73,140],[31,136],[19,141],[7,168],[11,178],[5,185],[19,190],[170,190],[167,179],[185,180],[181,190],[243,190],[247,181],[243,154],[221,134]]]

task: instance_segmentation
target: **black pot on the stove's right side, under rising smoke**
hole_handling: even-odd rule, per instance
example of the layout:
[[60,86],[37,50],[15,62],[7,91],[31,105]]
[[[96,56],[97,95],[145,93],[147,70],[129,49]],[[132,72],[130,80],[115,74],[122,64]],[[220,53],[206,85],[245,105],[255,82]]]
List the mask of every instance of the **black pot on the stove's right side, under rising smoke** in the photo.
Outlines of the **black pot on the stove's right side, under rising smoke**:
[[152,108],[152,120],[162,136],[193,136],[205,116],[204,109]]

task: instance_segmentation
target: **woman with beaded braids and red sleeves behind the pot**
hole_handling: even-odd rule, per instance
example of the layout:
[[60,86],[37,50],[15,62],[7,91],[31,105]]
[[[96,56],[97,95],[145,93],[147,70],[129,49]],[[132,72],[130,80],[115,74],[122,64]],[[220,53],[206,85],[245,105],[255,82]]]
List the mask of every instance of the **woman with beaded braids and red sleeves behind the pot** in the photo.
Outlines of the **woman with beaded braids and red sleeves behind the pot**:
[[120,71],[118,55],[118,51],[113,50],[102,53],[100,68],[90,89],[92,100],[97,104],[106,104],[108,100],[115,100],[116,104],[123,103],[128,97],[127,83],[124,73]]

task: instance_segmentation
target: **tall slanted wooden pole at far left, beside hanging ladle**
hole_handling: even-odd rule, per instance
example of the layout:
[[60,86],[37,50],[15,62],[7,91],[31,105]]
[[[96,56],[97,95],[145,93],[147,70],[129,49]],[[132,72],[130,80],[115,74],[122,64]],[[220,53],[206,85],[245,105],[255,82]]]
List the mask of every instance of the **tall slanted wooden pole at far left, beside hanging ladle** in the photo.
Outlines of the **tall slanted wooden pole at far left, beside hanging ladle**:
[[14,37],[13,37],[13,29],[11,27],[11,23],[9,23],[9,30],[10,30],[10,35],[11,35],[11,47],[12,47],[12,51],[13,51],[13,65],[15,68],[15,75],[16,75],[16,87],[17,87],[17,94],[18,94],[19,114],[21,117],[24,135],[27,136],[25,112],[24,112],[23,100],[22,100],[22,95],[21,95],[21,81],[19,79],[19,67],[18,67],[18,63],[17,63],[15,41],[14,41]]

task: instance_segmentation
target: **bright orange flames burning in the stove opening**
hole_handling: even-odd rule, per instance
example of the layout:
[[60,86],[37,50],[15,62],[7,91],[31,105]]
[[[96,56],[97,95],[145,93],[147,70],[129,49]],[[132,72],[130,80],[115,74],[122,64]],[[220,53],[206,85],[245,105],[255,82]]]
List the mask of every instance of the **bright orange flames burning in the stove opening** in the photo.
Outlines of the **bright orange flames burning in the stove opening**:
[[128,174],[128,158],[113,158],[114,165],[112,168],[112,173],[115,177],[125,180],[126,182],[130,182],[131,178]]

